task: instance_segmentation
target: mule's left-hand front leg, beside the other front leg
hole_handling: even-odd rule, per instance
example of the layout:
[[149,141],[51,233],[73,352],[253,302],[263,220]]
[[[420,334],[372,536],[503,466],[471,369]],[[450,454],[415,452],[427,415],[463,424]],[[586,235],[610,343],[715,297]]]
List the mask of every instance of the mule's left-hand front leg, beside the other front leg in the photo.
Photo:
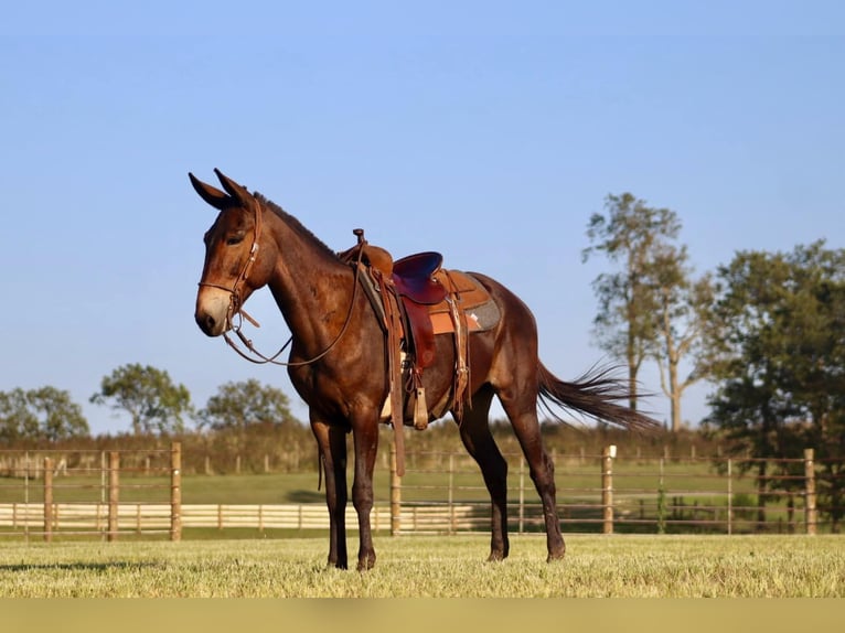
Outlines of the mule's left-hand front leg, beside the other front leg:
[[325,473],[325,505],[329,508],[329,566],[346,569],[346,433],[343,429],[311,419]]

